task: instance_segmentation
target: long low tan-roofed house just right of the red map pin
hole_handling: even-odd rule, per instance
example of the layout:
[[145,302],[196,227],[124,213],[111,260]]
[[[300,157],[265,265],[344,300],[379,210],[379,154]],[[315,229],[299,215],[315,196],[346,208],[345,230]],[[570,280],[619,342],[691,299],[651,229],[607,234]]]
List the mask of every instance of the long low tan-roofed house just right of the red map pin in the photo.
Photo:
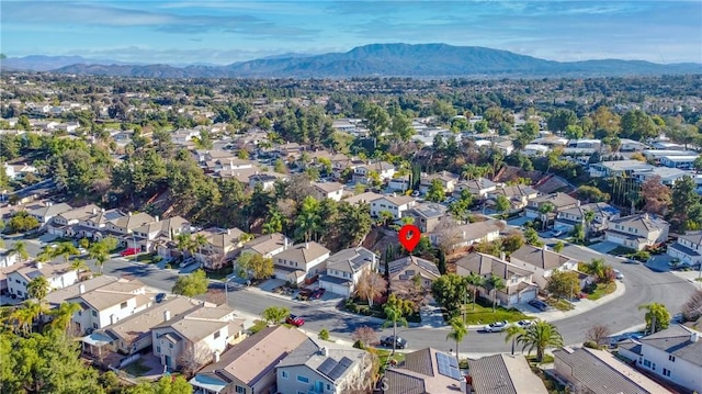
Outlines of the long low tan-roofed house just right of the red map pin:
[[496,221],[468,223],[460,226],[444,226],[434,228],[429,234],[433,245],[441,245],[446,250],[466,248],[479,243],[491,243],[499,238],[500,226]]

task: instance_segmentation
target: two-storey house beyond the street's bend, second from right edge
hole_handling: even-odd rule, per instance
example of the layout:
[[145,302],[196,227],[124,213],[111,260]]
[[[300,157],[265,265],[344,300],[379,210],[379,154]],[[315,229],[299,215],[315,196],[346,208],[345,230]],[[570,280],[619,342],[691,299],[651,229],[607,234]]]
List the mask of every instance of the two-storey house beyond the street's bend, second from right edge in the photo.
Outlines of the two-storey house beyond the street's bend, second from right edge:
[[668,240],[668,222],[647,213],[610,221],[604,239],[616,245],[643,250]]

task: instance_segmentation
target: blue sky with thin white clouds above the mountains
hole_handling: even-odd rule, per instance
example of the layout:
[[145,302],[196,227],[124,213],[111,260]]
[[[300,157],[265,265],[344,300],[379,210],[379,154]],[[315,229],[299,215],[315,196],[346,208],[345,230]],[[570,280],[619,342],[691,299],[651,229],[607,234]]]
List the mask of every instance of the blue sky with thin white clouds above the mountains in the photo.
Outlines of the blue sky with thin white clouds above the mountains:
[[486,46],[571,61],[702,63],[702,1],[2,0],[8,56],[230,64],[372,43]]

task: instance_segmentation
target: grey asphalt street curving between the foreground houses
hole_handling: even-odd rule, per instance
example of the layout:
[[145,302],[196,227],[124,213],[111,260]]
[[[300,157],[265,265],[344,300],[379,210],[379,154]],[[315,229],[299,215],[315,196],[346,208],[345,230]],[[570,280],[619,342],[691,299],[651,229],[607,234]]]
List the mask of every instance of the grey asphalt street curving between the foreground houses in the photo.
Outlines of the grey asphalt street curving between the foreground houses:
[[[12,240],[5,240],[7,247]],[[27,251],[36,256],[42,245],[37,240],[26,243]],[[643,264],[625,264],[613,256],[602,255],[589,248],[568,245],[562,254],[589,262],[593,258],[604,258],[615,269],[624,274],[626,292],[593,309],[554,322],[564,337],[565,344],[579,344],[585,340],[587,330],[595,324],[601,324],[610,328],[611,333],[630,329],[644,322],[644,312],[638,307],[643,304],[659,302],[666,305],[671,315],[676,314],[680,306],[694,292],[694,286],[688,281],[669,272],[656,272]],[[60,258],[56,261],[60,261]],[[99,272],[99,268],[92,261],[88,261],[91,270]],[[103,267],[106,275],[133,277],[144,282],[149,288],[170,292],[178,273],[176,270],[159,269],[155,264],[143,264],[126,261],[125,259],[112,259]],[[223,289],[223,283],[213,282],[211,288]],[[284,299],[259,289],[229,285],[229,305],[250,315],[260,315],[261,312],[272,305],[285,306],[293,314],[305,319],[304,329],[319,331],[321,328],[329,330],[332,337],[351,341],[351,333],[356,327],[370,326],[380,330],[380,336],[392,334],[392,328],[380,329],[382,322],[377,318],[358,316],[340,312],[335,308],[336,301],[309,301],[299,302]],[[410,349],[434,347],[449,350],[455,347],[455,342],[446,340],[448,328],[440,327],[398,327],[398,334],[408,340]],[[486,334],[472,329],[461,345],[461,351],[466,353],[489,353],[509,351],[511,344],[505,342],[505,334]]]

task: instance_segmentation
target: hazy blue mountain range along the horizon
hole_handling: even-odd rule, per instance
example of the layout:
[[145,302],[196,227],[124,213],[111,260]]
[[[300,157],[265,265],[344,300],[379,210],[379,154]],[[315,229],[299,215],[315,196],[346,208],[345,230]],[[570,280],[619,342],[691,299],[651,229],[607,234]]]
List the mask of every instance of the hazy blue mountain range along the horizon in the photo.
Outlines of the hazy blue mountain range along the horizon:
[[602,77],[702,74],[702,64],[643,60],[554,61],[508,50],[446,44],[371,44],[347,53],[285,54],[226,66],[127,64],[79,56],[5,58],[3,70],[139,78]]

